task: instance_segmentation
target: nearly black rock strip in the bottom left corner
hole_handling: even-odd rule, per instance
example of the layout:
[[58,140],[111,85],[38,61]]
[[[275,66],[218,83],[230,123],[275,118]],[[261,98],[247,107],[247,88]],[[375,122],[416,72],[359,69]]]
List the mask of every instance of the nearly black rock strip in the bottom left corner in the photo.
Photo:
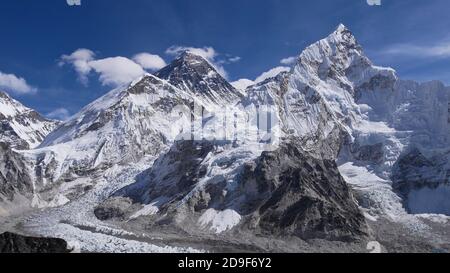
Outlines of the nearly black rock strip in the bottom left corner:
[[0,235],[0,253],[68,253],[63,239],[26,237],[14,233]]

